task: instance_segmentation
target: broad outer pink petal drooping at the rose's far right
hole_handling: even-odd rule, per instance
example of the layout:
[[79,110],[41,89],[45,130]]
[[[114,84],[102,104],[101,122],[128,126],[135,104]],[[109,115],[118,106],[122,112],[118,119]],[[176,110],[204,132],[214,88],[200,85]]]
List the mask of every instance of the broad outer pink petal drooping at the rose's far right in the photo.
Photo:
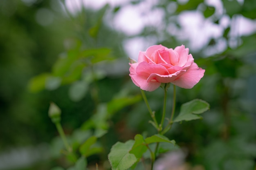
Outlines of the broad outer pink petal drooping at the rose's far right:
[[199,68],[197,64],[193,63],[184,74],[171,83],[181,88],[192,88],[204,76],[204,71],[204,69]]

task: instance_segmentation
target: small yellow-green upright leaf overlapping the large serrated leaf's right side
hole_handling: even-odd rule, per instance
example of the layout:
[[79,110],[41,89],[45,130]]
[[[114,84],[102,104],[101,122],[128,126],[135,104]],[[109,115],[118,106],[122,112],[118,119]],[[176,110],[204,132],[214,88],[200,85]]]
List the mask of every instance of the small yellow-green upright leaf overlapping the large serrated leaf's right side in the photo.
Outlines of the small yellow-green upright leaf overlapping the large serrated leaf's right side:
[[137,159],[141,159],[142,155],[148,150],[148,148],[142,135],[137,134],[135,135],[134,139],[135,143],[133,144],[129,153],[134,154]]

